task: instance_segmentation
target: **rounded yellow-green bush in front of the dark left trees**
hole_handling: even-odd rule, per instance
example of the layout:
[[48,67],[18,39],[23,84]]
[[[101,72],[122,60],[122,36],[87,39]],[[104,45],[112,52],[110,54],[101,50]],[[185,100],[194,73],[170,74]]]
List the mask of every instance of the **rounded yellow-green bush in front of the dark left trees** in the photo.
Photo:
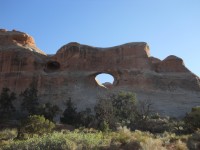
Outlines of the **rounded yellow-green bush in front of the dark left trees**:
[[43,116],[33,115],[22,120],[21,126],[19,128],[18,138],[24,138],[27,135],[42,135],[44,133],[51,132],[55,127],[55,124]]

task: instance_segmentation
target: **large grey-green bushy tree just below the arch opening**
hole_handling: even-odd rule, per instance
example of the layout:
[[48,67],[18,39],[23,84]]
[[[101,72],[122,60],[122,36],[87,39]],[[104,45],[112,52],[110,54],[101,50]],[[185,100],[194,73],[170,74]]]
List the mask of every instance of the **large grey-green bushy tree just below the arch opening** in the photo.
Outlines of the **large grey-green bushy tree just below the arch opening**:
[[119,92],[100,98],[94,109],[98,127],[104,122],[108,123],[111,129],[115,129],[116,124],[128,126],[134,118],[135,108],[136,96],[131,92]]

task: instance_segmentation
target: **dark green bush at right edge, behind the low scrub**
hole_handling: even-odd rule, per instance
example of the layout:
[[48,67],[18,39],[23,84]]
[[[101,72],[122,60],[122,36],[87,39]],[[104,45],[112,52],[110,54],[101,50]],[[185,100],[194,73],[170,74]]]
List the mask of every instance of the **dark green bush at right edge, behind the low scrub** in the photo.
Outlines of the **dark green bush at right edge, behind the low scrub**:
[[200,106],[192,108],[192,111],[186,114],[184,121],[189,132],[194,132],[200,128]]

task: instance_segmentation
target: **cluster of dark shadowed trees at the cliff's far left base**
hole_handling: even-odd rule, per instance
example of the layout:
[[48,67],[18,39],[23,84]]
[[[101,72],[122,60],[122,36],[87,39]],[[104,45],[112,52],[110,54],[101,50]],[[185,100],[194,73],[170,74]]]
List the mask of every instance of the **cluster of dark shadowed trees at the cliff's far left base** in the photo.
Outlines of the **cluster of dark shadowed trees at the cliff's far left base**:
[[13,105],[16,94],[8,88],[3,88],[0,94],[0,125],[12,120],[19,121],[31,115],[43,115],[46,119],[53,121],[60,112],[57,105],[51,103],[40,104],[38,98],[37,85],[33,82],[22,92],[19,97],[22,99],[20,108],[17,110]]

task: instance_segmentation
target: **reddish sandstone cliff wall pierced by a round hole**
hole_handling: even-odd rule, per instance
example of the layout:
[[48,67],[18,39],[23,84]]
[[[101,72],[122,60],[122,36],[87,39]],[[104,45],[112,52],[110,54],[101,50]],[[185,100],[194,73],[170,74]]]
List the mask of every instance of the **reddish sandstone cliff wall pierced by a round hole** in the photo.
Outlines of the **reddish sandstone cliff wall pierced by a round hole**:
[[[99,86],[96,75],[114,77],[109,88]],[[93,108],[107,92],[134,91],[138,100],[149,100],[155,111],[184,116],[200,105],[200,79],[181,58],[163,61],[150,57],[145,42],[98,48],[79,43],[62,46],[55,55],[39,50],[31,36],[19,31],[0,30],[0,89],[16,93],[37,82],[41,103],[51,102],[64,109],[69,97],[79,110]]]

